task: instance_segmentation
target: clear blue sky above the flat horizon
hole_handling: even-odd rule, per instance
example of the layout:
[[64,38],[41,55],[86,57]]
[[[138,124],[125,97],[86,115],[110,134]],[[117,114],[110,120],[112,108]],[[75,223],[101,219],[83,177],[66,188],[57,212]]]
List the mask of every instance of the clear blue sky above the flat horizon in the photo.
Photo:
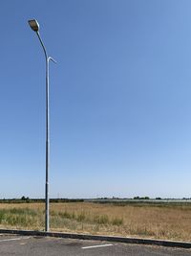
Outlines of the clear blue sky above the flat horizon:
[[191,197],[191,2],[0,3],[0,198]]

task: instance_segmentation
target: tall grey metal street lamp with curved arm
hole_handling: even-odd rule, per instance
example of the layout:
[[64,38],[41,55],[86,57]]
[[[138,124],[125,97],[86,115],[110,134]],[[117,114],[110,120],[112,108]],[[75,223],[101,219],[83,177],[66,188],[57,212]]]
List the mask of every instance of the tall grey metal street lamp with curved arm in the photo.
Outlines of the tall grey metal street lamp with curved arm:
[[[48,56],[45,45],[39,34],[39,24],[36,19],[29,20],[32,31],[36,33],[42,45],[46,58],[46,184],[45,184],[45,231],[49,232],[49,154],[50,154],[50,127],[49,127],[49,61],[55,60]],[[55,62],[56,63],[56,62]]]

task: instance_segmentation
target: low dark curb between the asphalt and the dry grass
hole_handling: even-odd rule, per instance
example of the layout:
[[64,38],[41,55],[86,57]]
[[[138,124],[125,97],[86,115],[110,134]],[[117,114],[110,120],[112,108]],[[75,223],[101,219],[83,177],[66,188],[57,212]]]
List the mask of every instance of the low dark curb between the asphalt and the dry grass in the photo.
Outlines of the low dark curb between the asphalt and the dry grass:
[[70,239],[79,239],[79,240],[108,241],[108,242],[117,242],[117,243],[126,243],[126,244],[147,244],[147,245],[159,245],[159,246],[168,246],[168,247],[191,248],[191,243],[188,243],[188,242],[130,238],[130,237],[96,236],[96,235],[83,235],[83,234],[74,234],[74,233],[44,232],[44,231],[15,230],[15,229],[0,229],[0,234],[14,234],[14,235],[23,235],[23,236],[44,236],[44,237],[70,238]]

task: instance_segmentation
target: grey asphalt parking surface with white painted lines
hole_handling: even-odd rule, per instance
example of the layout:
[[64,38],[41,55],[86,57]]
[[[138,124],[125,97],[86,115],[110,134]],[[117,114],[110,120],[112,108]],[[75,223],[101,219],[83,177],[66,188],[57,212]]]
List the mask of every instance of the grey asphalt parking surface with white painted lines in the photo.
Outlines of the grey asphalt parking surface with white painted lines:
[[0,235],[0,256],[190,256],[191,249]]

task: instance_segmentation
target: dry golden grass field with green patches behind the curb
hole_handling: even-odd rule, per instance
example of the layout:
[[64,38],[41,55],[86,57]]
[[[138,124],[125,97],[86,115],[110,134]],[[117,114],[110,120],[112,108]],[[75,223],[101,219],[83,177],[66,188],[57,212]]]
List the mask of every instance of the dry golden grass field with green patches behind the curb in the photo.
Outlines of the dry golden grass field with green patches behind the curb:
[[[51,203],[52,231],[191,242],[190,204]],[[0,228],[43,230],[44,203],[0,203]]]

